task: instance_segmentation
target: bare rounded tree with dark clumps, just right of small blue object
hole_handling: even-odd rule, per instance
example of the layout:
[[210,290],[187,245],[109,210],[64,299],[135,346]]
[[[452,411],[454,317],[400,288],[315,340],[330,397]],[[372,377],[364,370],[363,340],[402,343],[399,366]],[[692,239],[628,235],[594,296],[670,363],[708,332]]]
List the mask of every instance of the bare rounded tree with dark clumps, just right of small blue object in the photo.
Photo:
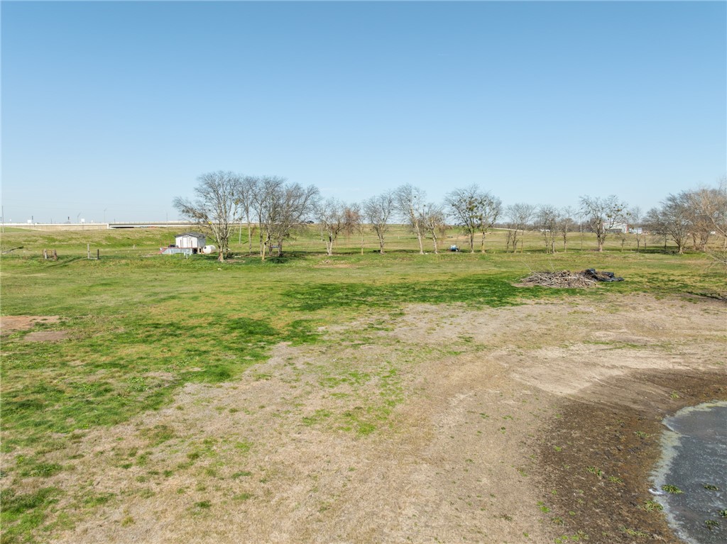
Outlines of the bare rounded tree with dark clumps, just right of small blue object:
[[480,251],[485,251],[485,235],[502,213],[502,202],[477,185],[455,189],[446,195],[445,202],[454,223],[462,227],[469,237],[470,252],[475,252],[475,234],[482,233]]

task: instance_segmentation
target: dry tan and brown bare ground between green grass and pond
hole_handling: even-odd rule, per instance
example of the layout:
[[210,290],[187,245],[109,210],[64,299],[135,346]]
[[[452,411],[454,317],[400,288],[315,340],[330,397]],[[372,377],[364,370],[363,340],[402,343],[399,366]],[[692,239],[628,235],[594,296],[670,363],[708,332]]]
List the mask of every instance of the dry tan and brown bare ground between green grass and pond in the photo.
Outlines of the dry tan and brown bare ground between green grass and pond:
[[726,329],[710,299],[372,311],[49,454],[79,512],[50,537],[676,542],[648,472],[664,415],[727,399]]

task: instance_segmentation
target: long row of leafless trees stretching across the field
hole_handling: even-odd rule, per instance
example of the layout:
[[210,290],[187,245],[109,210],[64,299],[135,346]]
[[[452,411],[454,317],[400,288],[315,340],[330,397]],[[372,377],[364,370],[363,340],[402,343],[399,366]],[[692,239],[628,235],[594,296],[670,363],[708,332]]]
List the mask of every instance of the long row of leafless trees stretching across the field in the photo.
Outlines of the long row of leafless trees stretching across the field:
[[175,198],[174,207],[212,234],[220,245],[221,261],[228,255],[233,230],[241,223],[247,225],[250,253],[256,238],[262,259],[281,256],[294,230],[310,223],[320,226],[329,255],[342,232],[358,234],[363,252],[364,235],[372,231],[377,235],[379,251],[384,253],[386,235],[394,222],[409,226],[417,237],[419,253],[425,252],[425,243],[431,243],[438,253],[449,227],[459,227],[467,235],[471,252],[475,252],[478,236],[478,249],[485,251],[486,235],[493,227],[506,229],[508,251],[517,251],[518,244],[522,247],[527,230],[542,233],[546,251],[555,253],[557,240],[562,240],[566,251],[567,235],[577,228],[595,233],[598,251],[603,251],[611,233],[622,236],[622,245],[624,236],[632,235],[640,249],[647,232],[673,240],[679,253],[690,242],[696,250],[704,251],[710,237],[715,236],[727,248],[726,179],[720,180],[718,187],[668,195],[661,206],[646,213],[614,195],[581,197],[577,209],[526,203],[503,206],[499,198],[475,184],[452,190],[442,203],[428,201],[426,192],[411,184],[360,203],[343,203],[321,198],[314,185],[303,187],[278,176],[243,176],[230,171],[202,174],[194,193],[191,199]]

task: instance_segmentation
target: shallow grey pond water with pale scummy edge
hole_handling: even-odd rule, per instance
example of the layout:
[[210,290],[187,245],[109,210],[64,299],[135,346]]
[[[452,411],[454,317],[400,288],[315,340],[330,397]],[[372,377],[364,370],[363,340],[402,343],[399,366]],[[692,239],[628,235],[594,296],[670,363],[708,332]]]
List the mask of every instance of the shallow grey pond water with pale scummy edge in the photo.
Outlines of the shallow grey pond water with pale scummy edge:
[[[727,509],[727,402],[684,408],[664,419],[664,425],[669,430],[662,437],[652,492],[667,521],[687,543],[727,543],[727,518],[720,516]],[[664,492],[662,485],[682,493]]]

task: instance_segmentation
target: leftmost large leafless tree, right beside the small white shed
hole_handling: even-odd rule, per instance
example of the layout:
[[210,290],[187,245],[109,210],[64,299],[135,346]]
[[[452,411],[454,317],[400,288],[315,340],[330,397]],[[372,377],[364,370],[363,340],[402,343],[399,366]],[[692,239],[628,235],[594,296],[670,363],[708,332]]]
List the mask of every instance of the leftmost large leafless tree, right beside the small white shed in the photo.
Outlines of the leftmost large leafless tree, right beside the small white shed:
[[230,235],[240,220],[240,176],[230,171],[202,174],[194,188],[195,200],[174,198],[173,206],[180,214],[210,232],[220,245],[220,262],[224,262],[230,248]]

